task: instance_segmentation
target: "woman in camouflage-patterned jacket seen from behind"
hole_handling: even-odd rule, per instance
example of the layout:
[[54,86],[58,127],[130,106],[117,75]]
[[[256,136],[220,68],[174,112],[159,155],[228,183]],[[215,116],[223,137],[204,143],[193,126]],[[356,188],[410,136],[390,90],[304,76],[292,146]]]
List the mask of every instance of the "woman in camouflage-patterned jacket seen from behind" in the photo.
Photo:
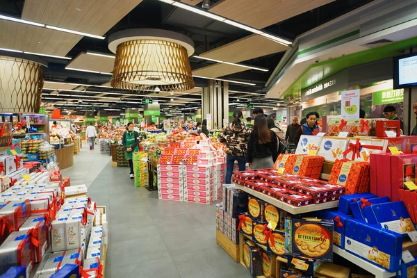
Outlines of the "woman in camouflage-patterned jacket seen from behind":
[[225,126],[218,135],[218,140],[226,145],[227,184],[231,183],[231,173],[236,160],[238,161],[239,171],[244,171],[246,167],[247,140],[250,136],[250,130],[243,124],[242,117],[242,111],[234,111],[233,122]]

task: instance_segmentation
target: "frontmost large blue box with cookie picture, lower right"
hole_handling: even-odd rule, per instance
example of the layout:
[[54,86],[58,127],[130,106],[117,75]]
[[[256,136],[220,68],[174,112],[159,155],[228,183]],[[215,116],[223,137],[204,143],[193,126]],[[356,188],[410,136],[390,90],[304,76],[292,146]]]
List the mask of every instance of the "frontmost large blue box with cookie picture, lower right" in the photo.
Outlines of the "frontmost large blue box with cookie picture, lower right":
[[400,270],[402,237],[364,220],[347,219],[345,250],[390,272]]

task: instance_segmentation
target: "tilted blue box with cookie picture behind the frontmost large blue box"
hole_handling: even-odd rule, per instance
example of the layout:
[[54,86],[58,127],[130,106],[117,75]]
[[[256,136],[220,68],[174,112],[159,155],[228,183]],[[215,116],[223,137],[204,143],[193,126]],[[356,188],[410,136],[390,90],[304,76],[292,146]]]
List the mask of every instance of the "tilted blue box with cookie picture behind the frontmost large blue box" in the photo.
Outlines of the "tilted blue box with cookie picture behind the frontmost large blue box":
[[370,224],[378,224],[383,229],[402,236],[407,236],[409,231],[415,231],[414,223],[402,201],[373,204],[363,208],[363,212]]

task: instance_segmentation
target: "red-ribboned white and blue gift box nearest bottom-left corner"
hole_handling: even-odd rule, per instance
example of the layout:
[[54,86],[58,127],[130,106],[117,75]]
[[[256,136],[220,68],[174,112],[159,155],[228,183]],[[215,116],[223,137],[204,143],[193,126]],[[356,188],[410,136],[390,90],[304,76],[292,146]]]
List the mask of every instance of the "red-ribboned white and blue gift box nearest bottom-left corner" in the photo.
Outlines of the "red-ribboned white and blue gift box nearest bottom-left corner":
[[26,266],[26,273],[30,273],[33,267],[33,245],[30,231],[13,231],[0,245],[0,273],[16,265]]

